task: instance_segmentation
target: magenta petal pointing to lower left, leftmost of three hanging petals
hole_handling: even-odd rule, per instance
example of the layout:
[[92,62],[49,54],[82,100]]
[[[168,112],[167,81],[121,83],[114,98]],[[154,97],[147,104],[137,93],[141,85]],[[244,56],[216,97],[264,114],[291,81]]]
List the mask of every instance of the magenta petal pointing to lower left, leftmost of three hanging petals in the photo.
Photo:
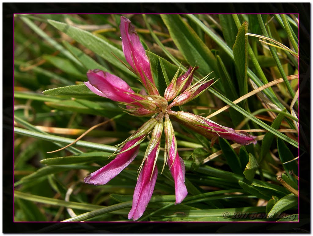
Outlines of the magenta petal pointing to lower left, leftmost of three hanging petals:
[[[121,151],[131,147],[141,138],[142,136],[127,142]],[[118,154],[109,164],[85,177],[85,183],[102,185],[109,182],[134,160],[138,154],[139,146],[137,145],[124,153]]]

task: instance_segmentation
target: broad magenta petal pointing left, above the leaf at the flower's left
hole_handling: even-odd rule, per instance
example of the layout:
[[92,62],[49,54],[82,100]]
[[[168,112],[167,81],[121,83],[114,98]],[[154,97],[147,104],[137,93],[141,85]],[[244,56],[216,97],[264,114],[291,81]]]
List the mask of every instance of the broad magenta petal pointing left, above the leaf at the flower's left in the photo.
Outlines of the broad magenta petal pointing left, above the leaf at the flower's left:
[[[109,98],[113,101],[131,103],[134,100],[127,93],[134,93],[131,87],[121,78],[102,70],[89,70],[87,72],[89,84],[85,85],[95,94]],[[91,87],[91,86],[92,87]]]

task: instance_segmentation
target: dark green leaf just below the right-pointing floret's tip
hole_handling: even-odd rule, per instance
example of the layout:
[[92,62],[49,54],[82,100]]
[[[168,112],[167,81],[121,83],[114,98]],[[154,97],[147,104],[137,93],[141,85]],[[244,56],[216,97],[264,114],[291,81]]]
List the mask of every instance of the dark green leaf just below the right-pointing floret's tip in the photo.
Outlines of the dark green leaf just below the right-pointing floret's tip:
[[236,174],[242,175],[241,164],[239,157],[236,152],[233,150],[232,146],[228,143],[226,139],[219,138],[219,146],[221,147],[223,154],[226,158],[226,161],[232,171]]

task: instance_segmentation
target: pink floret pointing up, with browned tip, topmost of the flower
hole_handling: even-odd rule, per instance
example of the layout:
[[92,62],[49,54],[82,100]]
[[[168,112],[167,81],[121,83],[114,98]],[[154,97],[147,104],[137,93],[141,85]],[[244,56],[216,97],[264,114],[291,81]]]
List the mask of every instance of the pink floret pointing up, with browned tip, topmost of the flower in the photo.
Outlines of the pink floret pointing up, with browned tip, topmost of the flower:
[[150,61],[140,42],[135,27],[131,24],[129,19],[122,16],[120,30],[122,35],[122,48],[126,61],[135,70],[135,73],[141,79],[148,93],[150,95],[159,95],[152,77]]

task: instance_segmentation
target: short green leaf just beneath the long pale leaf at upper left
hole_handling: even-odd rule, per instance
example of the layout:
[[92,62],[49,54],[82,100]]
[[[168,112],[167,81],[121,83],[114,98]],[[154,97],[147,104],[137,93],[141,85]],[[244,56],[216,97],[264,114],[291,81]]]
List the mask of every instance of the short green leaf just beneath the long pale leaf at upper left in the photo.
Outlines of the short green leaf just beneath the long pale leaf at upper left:
[[81,64],[83,64],[83,66],[86,69],[90,69],[90,70],[92,70],[92,69],[101,69],[101,70],[110,72],[109,69],[107,69],[104,66],[100,65],[98,62],[96,62],[90,56],[85,54],[80,49],[74,47],[69,42],[64,41],[63,44],[81,62]]

